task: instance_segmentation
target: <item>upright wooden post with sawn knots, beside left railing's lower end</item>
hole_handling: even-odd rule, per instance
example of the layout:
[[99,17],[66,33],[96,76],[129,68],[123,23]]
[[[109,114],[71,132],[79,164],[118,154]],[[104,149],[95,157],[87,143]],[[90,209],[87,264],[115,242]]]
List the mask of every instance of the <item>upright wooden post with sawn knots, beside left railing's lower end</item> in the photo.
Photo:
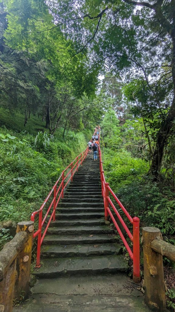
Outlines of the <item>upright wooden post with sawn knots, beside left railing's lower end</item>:
[[25,231],[28,234],[24,248],[17,256],[17,280],[15,283],[14,299],[18,301],[26,299],[29,295],[33,224],[33,221],[24,221],[19,222],[17,225],[17,233]]

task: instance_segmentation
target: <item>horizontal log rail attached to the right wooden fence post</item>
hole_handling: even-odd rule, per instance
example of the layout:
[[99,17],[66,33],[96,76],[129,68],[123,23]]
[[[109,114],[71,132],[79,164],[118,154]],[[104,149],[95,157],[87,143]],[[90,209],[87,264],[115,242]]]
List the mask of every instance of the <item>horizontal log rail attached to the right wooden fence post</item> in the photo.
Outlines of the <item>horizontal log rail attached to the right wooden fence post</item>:
[[175,261],[175,246],[163,241],[162,239],[154,239],[151,242],[151,248],[160,255],[165,256],[171,261]]

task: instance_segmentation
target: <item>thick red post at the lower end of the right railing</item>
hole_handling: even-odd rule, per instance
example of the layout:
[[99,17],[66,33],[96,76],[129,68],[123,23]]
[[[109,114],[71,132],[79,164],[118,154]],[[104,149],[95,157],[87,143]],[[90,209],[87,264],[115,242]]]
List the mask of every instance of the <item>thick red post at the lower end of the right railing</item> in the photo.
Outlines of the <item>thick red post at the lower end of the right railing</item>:
[[140,219],[133,218],[133,280],[140,282]]

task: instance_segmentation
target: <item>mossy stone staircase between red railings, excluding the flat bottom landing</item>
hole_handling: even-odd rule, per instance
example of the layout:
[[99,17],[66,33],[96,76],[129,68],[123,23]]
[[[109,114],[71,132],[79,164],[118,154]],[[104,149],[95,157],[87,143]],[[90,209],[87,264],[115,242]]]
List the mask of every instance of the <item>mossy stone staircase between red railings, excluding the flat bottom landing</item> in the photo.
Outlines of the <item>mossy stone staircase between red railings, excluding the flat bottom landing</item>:
[[41,263],[34,274],[117,273],[127,270],[113,229],[105,224],[99,159],[88,154],[73,177],[41,247]]

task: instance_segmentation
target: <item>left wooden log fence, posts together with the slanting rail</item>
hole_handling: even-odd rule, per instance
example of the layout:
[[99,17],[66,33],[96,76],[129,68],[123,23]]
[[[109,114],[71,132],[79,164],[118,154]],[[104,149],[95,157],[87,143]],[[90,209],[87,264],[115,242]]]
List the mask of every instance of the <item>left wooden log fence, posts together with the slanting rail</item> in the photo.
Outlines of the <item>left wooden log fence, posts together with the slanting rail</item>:
[[0,311],[11,312],[29,294],[33,221],[19,222],[17,234],[0,251]]

